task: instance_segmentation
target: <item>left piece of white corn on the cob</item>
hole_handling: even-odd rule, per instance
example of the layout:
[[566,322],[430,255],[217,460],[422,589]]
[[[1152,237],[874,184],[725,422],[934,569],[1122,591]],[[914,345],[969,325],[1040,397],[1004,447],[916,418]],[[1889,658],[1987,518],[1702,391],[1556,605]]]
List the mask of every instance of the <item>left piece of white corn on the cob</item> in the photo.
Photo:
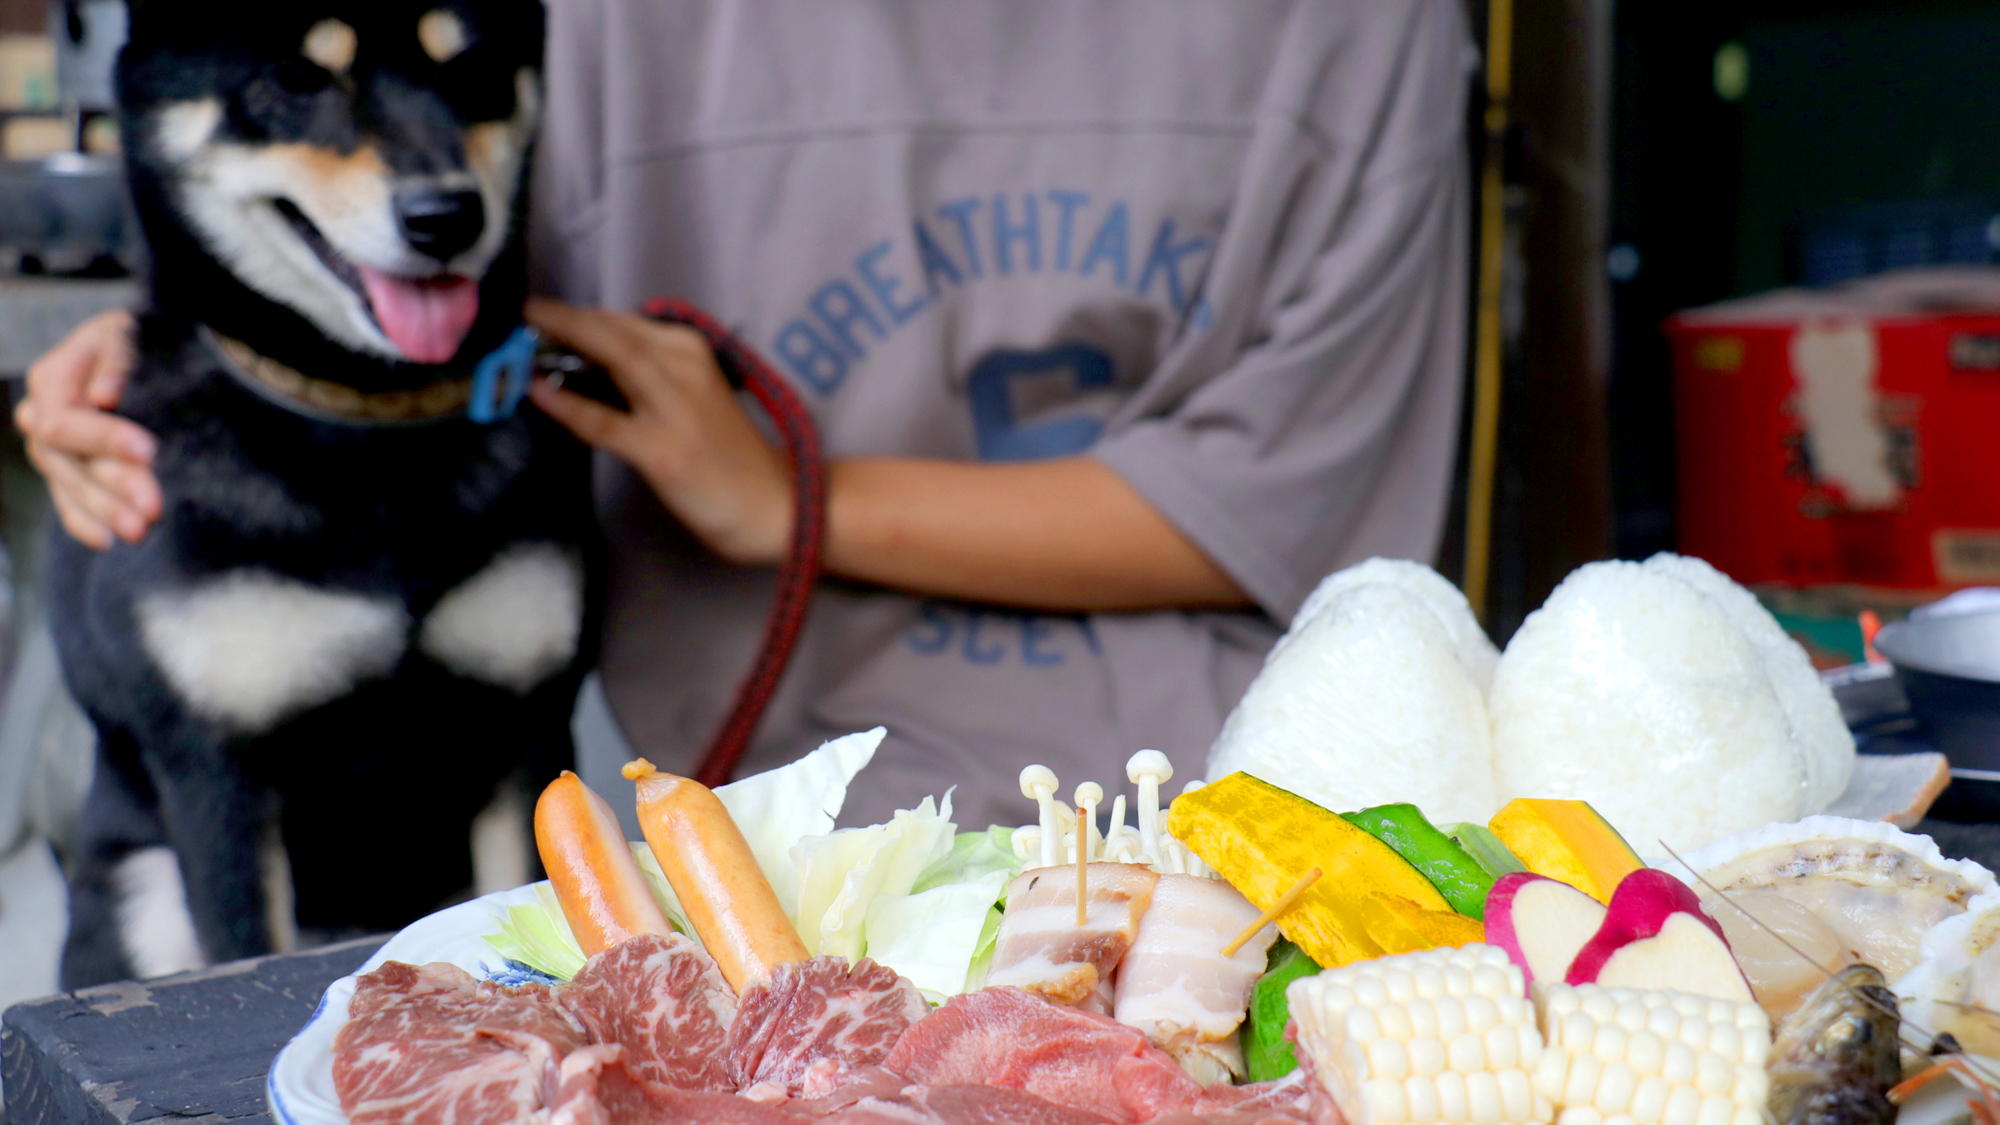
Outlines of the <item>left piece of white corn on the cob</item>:
[[1298,1045],[1348,1125],[1546,1125],[1542,1033],[1492,945],[1358,961],[1286,989]]

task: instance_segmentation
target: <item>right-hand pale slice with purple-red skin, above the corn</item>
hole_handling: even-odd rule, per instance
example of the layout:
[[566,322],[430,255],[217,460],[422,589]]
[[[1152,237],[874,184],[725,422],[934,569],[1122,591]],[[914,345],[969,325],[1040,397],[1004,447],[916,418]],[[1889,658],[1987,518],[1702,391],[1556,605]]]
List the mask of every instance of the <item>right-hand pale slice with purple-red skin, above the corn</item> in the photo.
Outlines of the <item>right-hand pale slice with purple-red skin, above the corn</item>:
[[1654,869],[1618,883],[1604,925],[1576,953],[1566,981],[1754,1003],[1722,927],[1680,879]]

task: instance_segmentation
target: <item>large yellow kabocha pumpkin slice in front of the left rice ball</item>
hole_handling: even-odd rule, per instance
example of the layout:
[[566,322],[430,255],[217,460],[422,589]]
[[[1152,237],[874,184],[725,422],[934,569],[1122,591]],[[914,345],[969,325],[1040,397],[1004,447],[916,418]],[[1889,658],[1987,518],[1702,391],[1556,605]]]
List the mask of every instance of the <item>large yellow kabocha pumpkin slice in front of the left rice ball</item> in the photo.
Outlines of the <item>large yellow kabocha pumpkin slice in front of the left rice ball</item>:
[[1258,909],[1318,867],[1322,877],[1278,915],[1278,929],[1326,967],[1486,937],[1386,843],[1248,773],[1178,797],[1166,831]]

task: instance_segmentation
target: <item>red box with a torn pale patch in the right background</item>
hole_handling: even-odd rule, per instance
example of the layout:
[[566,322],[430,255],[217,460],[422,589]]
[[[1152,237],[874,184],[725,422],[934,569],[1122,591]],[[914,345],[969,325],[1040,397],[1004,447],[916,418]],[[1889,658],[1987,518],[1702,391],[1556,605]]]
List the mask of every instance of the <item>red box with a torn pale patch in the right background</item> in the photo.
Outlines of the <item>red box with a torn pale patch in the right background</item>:
[[2000,270],[1676,314],[1680,548],[1744,585],[2000,583]]

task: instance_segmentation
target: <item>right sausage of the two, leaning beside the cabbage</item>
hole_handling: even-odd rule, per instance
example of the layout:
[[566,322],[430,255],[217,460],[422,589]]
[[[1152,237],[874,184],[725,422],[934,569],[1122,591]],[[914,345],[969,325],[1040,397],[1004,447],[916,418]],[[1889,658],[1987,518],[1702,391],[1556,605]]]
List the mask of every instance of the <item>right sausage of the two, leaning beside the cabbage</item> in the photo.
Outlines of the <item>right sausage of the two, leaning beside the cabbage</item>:
[[626,763],[624,775],[638,783],[646,843],[722,979],[742,993],[768,981],[774,965],[806,961],[806,945],[722,799],[646,759]]

